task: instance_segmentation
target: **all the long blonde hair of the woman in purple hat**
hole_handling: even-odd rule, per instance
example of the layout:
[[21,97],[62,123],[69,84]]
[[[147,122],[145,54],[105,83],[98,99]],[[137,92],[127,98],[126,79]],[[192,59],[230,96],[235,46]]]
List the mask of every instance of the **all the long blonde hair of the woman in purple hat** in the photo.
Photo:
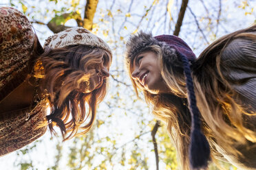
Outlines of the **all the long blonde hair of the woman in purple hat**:
[[[244,144],[246,141],[256,142],[256,134],[249,128],[252,125],[245,125],[243,119],[244,115],[250,117],[255,115],[255,112],[248,111],[248,108],[234,100],[237,94],[232,90],[220,69],[222,68],[220,60],[222,51],[229,42],[235,38],[255,40],[255,34],[250,32],[256,32],[255,25],[223,36],[209,45],[192,64],[195,94],[202,114],[202,130],[211,145],[211,157],[214,161],[215,156],[220,156],[215,148],[216,144],[234,156],[241,156],[233,144]],[[138,95],[138,89],[142,90],[147,104],[153,104],[153,114],[167,124],[167,130],[178,151],[182,169],[189,170],[191,115],[186,100],[186,82],[182,61],[178,56],[170,56],[172,57],[171,65],[164,62],[161,48],[158,45],[152,45],[148,50],[154,51],[160,59],[161,75],[171,93],[153,95],[144,90],[131,77],[133,61],[129,62],[130,64],[127,62],[129,77],[136,94]]]

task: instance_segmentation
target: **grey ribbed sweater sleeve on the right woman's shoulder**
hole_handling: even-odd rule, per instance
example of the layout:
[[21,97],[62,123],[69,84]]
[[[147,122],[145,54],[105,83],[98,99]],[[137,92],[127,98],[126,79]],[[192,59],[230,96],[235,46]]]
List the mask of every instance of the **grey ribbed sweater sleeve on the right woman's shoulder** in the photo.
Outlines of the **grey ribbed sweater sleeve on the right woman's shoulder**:
[[[256,34],[256,33],[255,33]],[[237,38],[222,52],[222,74],[241,104],[256,111],[256,39]]]

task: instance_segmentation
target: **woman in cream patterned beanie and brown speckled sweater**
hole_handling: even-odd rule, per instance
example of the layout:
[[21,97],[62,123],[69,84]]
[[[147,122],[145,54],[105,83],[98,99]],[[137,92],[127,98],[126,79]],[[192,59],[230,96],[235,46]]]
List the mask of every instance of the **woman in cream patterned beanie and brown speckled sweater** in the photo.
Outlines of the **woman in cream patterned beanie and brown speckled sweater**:
[[64,140],[88,132],[107,90],[109,46],[72,27],[47,38],[43,48],[14,8],[0,8],[0,25],[0,156],[32,143],[47,127],[54,133],[59,127]]

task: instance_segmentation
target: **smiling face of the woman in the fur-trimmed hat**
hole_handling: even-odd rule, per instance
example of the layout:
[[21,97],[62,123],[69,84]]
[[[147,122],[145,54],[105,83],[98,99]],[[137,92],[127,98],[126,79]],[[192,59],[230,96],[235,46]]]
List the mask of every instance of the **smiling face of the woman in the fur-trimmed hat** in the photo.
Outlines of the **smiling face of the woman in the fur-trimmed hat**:
[[152,94],[167,93],[169,88],[162,79],[158,56],[153,51],[140,53],[134,59],[131,77]]

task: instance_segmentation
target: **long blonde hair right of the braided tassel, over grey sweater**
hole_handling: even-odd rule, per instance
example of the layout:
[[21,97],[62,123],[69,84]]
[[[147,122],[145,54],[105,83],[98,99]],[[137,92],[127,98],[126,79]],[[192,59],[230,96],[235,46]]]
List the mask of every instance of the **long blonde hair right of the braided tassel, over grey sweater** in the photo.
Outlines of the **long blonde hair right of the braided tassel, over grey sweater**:
[[[237,93],[222,74],[225,67],[222,52],[235,38],[247,38],[256,42],[256,25],[233,32],[213,42],[193,65],[194,84],[198,108],[209,128],[205,134],[210,145],[217,143],[234,156],[241,156],[234,145],[256,143],[255,125],[245,123],[244,117],[255,116],[255,110],[237,101]],[[232,57],[232,56],[231,56]],[[228,140],[227,140],[228,138]],[[217,155],[217,151],[212,151]]]

